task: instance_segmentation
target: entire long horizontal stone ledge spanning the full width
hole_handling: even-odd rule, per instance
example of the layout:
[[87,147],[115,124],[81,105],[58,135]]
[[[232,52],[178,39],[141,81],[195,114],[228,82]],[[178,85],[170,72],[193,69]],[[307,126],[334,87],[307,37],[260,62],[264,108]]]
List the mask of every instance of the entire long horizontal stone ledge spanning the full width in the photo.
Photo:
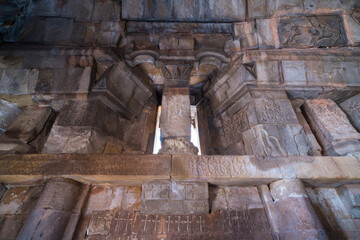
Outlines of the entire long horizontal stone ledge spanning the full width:
[[243,186],[298,178],[312,186],[338,186],[360,182],[360,161],[355,157],[310,156],[0,155],[2,182],[36,182],[51,177],[124,185],[172,179]]

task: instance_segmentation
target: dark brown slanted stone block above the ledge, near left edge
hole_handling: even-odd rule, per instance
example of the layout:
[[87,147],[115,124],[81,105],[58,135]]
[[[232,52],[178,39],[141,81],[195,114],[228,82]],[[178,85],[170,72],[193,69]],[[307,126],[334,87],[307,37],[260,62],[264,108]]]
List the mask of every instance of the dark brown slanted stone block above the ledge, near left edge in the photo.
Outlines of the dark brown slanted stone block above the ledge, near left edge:
[[46,107],[28,107],[7,128],[4,139],[18,139],[24,143],[34,140],[43,130],[49,119],[51,109]]

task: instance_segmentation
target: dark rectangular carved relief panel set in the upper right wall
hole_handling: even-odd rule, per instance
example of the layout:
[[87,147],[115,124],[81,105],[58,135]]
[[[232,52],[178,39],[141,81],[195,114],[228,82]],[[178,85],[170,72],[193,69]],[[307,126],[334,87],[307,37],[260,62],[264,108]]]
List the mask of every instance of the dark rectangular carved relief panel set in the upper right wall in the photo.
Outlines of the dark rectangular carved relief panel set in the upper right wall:
[[346,43],[339,16],[281,19],[279,37],[283,47],[331,47]]

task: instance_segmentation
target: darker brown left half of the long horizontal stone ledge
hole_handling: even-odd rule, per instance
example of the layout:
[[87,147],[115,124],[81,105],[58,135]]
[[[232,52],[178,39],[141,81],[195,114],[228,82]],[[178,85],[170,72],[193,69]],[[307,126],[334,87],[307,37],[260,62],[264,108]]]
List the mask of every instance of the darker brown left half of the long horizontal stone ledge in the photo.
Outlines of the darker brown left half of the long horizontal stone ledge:
[[0,181],[7,183],[68,177],[81,182],[170,179],[170,155],[28,154],[0,155]]

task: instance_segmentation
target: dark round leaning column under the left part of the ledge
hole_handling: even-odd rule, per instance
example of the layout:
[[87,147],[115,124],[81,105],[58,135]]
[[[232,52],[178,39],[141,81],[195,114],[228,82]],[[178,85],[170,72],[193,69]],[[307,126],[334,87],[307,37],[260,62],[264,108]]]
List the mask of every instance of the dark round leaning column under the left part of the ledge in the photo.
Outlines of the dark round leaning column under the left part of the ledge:
[[49,180],[17,239],[62,239],[80,191],[78,182]]

